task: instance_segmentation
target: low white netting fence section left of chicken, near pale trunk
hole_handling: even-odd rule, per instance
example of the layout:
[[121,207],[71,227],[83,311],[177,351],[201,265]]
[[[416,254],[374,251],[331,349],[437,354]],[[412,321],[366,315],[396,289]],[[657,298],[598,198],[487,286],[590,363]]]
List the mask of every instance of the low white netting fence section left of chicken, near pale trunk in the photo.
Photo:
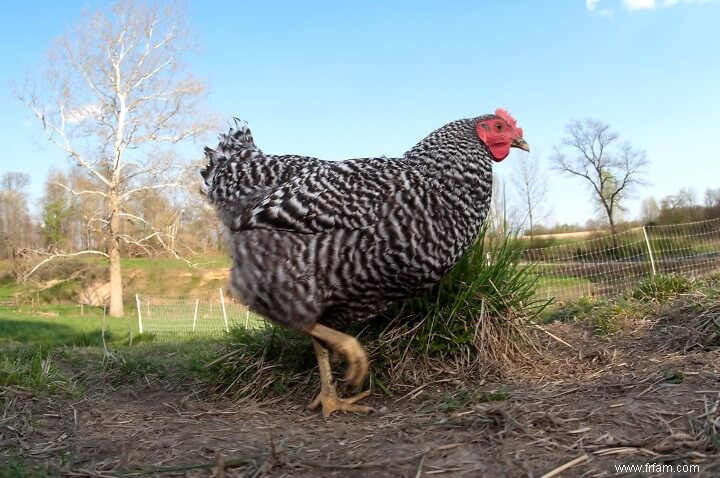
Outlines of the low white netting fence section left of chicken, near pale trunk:
[[215,337],[231,327],[255,328],[264,319],[226,296],[222,289],[197,297],[137,294],[138,329],[156,338]]

